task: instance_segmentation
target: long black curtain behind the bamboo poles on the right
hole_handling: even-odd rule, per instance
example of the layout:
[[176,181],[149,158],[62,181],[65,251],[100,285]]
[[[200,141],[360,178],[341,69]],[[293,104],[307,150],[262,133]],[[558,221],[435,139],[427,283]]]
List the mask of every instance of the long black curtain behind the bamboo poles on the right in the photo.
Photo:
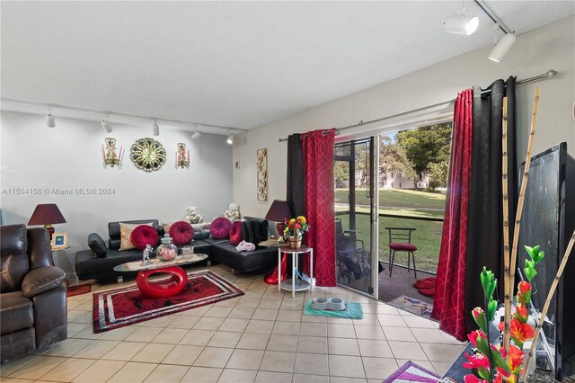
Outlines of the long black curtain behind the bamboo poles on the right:
[[473,157],[469,196],[469,225],[465,268],[467,332],[476,327],[474,307],[483,306],[480,273],[483,266],[499,280],[503,298],[502,118],[508,97],[509,244],[517,210],[516,77],[497,80],[482,92],[473,87]]

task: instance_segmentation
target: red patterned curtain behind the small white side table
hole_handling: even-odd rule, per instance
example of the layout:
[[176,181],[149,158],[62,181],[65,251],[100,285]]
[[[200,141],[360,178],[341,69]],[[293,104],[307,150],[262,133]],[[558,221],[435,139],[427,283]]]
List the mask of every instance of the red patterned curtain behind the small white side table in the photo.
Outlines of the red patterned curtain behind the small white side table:
[[314,248],[314,278],[317,286],[336,286],[333,212],[334,141],[335,129],[314,130],[302,135],[305,210],[310,225],[305,235],[305,244]]

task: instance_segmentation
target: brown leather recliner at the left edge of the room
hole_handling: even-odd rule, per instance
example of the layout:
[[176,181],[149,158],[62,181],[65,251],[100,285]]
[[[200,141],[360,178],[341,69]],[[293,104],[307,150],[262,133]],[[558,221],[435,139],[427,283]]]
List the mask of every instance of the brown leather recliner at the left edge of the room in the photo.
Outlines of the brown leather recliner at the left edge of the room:
[[54,266],[48,230],[0,226],[0,361],[67,337],[66,273]]

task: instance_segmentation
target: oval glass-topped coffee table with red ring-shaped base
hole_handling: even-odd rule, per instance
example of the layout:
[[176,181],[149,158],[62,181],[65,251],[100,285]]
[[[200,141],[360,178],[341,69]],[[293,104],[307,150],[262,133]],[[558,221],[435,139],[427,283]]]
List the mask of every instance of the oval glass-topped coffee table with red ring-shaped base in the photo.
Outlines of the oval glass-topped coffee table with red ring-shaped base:
[[[208,254],[178,255],[173,261],[163,262],[151,259],[145,265],[141,261],[122,263],[114,267],[114,272],[137,272],[136,284],[147,298],[167,298],[179,294],[188,283],[188,274],[180,266],[199,263],[208,258]],[[170,274],[167,279],[150,281],[155,274]]]

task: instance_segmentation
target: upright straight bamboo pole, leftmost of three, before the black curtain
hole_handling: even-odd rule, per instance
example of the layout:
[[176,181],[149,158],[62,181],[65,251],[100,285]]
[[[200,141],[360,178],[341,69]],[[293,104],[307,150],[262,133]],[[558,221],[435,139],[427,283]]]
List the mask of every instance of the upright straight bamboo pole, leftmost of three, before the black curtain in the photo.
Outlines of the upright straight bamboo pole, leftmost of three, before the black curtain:
[[502,129],[502,185],[503,185],[503,264],[505,273],[503,277],[503,290],[505,291],[505,328],[503,331],[503,347],[505,354],[509,355],[510,331],[509,322],[511,320],[511,297],[509,296],[509,200],[507,182],[507,97],[503,97],[503,129]]

